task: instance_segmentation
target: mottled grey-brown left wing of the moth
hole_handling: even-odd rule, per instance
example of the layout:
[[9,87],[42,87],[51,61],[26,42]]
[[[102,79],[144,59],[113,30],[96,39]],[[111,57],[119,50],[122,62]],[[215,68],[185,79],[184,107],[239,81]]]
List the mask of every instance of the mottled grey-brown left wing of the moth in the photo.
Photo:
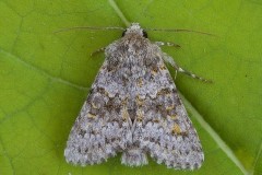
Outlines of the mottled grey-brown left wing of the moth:
[[[84,166],[102,163],[124,149],[132,138],[127,108],[114,93],[122,90],[118,90],[120,86],[111,89],[114,82],[106,85],[106,80],[112,75],[105,70],[106,65],[107,61],[96,77],[69,135],[64,156],[72,164]],[[114,92],[108,92],[110,90]]]

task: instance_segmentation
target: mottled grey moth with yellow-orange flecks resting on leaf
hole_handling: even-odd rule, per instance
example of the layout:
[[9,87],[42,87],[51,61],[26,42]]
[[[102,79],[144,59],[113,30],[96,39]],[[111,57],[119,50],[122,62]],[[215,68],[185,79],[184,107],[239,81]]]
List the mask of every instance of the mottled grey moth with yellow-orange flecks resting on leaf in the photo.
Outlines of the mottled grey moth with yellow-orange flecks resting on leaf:
[[67,162],[99,164],[121,152],[128,166],[145,165],[147,156],[176,170],[202,165],[200,139],[165,62],[205,80],[180,68],[162,45],[132,23],[104,49],[105,62],[69,135]]

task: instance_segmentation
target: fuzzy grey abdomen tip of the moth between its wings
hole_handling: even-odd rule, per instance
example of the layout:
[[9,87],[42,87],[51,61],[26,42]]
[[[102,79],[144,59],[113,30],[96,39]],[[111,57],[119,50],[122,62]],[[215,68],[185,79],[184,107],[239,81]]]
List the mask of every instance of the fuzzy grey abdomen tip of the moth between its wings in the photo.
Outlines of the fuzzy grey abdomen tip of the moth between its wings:
[[148,162],[145,153],[142,150],[130,149],[122,153],[121,163],[128,166],[142,166]]

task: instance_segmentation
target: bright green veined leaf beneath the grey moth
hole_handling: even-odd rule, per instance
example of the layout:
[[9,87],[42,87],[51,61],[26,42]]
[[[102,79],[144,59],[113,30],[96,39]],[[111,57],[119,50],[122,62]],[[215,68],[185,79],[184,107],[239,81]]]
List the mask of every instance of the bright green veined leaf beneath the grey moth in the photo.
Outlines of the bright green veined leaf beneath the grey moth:
[[[90,54],[121,33],[53,32],[124,26],[124,18],[144,27],[217,36],[148,32],[152,40],[181,45],[163,50],[214,81],[206,84],[183,74],[176,80],[203,144],[205,162],[199,171],[168,170],[152,160],[131,168],[120,164],[120,154],[86,167],[64,161],[68,135],[104,61],[103,55]],[[0,19],[0,174],[261,174],[260,1],[2,0]]]

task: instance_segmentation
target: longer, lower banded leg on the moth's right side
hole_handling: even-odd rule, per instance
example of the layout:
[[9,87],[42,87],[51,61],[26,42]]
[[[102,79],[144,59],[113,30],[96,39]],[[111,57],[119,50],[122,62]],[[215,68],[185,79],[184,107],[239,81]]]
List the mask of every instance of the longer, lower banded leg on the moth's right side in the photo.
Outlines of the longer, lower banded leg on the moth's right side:
[[181,67],[179,67],[179,66],[174,61],[174,59],[172,59],[170,56],[166,55],[166,54],[164,54],[163,59],[164,59],[165,62],[170,63],[170,65],[176,69],[175,79],[176,79],[176,77],[177,77],[177,72],[181,72],[181,73],[184,73],[184,74],[187,74],[187,75],[189,75],[189,77],[191,77],[191,78],[193,78],[193,79],[198,79],[198,80],[203,81],[203,82],[206,82],[206,83],[212,83],[211,80],[201,78],[201,77],[199,77],[199,75],[196,75],[196,74],[194,74],[194,73],[192,73],[192,72],[190,72],[190,71],[188,71],[188,70],[184,70],[184,69],[181,68]]

